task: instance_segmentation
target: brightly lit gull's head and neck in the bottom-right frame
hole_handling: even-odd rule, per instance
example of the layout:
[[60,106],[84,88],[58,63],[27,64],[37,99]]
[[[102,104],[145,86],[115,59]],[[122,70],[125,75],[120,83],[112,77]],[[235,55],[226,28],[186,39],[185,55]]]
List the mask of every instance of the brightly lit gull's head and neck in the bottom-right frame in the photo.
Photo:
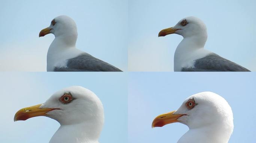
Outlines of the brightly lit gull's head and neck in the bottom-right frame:
[[231,107],[213,92],[188,97],[176,111],[157,116],[152,128],[176,122],[189,127],[177,143],[228,143],[234,128]]

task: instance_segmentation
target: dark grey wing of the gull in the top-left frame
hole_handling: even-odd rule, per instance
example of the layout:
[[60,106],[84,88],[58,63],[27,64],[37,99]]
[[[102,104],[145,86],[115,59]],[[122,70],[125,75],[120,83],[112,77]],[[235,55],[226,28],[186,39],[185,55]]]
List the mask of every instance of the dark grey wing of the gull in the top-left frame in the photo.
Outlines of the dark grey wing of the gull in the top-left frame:
[[67,68],[56,67],[54,71],[122,71],[90,54],[84,53],[67,60]]

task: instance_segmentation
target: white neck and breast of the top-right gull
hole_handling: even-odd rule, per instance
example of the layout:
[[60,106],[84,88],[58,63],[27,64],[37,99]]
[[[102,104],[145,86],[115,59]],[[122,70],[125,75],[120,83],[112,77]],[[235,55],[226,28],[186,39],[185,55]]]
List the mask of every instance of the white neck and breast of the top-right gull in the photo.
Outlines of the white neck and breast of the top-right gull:
[[191,67],[195,59],[211,53],[204,49],[207,34],[185,37],[174,53],[174,71],[181,71],[182,67]]

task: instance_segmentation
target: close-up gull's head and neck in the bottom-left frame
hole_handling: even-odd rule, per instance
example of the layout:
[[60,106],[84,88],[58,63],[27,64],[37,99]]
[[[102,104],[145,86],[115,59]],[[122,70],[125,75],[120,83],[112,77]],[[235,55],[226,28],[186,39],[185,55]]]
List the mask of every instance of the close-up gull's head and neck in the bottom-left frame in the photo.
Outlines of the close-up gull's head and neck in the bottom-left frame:
[[71,86],[55,92],[45,103],[20,109],[14,121],[46,116],[60,123],[49,143],[98,143],[104,109],[92,91]]

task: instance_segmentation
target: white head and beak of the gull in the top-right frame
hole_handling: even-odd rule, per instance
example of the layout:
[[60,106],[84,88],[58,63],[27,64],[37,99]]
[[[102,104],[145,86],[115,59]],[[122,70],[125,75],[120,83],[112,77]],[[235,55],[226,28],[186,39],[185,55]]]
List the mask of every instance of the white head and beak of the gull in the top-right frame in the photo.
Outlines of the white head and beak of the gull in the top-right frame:
[[183,18],[171,28],[161,30],[158,37],[169,34],[179,34],[184,38],[191,36],[207,36],[207,28],[201,19],[190,16]]

